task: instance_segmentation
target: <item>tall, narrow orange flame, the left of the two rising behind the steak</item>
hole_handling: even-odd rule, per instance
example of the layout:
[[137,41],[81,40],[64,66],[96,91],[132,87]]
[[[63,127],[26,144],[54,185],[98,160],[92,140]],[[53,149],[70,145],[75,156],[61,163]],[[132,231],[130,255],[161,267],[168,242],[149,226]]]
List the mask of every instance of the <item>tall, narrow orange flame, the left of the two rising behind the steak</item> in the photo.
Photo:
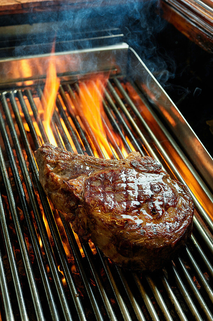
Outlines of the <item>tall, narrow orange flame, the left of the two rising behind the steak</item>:
[[56,140],[52,134],[50,126],[52,115],[55,109],[55,101],[60,85],[60,80],[56,74],[56,60],[55,56],[53,55],[54,51],[55,45],[53,44],[52,55],[50,56],[49,65],[47,68],[47,77],[41,102],[44,108],[43,126],[45,128],[50,143],[56,146]]

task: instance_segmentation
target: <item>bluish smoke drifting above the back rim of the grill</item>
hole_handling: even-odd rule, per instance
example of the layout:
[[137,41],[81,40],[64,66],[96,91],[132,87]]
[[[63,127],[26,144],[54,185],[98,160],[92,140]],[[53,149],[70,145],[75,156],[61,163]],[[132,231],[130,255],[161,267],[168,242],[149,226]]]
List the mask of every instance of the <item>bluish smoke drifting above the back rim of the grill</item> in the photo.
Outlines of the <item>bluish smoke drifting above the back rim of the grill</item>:
[[[31,12],[23,15],[26,28],[17,28],[13,56],[51,52],[54,38],[56,52],[127,42],[161,84],[174,77],[174,63],[166,53],[159,52],[156,43],[156,35],[166,26],[157,13],[158,0],[86,0],[59,4],[57,10],[54,1],[52,8],[50,4],[49,1],[45,12],[34,12],[31,8]],[[116,35],[118,30],[123,37],[106,37]]]

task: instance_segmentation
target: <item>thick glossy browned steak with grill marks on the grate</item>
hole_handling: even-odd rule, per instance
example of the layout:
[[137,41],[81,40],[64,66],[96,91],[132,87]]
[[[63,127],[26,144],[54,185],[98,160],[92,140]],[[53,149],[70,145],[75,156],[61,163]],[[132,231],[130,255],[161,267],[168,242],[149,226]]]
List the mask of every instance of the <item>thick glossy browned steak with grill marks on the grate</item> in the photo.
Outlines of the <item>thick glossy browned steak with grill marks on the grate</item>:
[[153,158],[132,152],[103,160],[49,143],[35,156],[46,195],[79,238],[91,239],[114,263],[154,271],[190,237],[189,191]]

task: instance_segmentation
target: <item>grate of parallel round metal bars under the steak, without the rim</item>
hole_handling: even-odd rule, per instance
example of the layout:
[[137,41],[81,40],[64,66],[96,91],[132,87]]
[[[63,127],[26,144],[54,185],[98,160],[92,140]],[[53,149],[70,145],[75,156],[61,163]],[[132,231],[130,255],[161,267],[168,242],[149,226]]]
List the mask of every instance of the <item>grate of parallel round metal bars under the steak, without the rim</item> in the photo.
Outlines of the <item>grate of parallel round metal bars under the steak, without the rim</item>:
[[[48,142],[39,105],[42,86],[1,93],[0,313],[8,320],[213,320],[212,221],[202,197],[211,194],[141,88],[110,78],[103,105],[127,153],[158,159],[172,178],[199,189],[193,235],[185,250],[152,275],[123,270],[91,244],[80,245],[71,226],[49,203],[33,151]],[[104,157],[89,124],[76,117],[77,83],[61,83],[51,128],[59,147]],[[112,155],[123,150],[105,129]],[[68,133],[68,134],[67,134]],[[179,165],[178,165],[179,164]],[[185,176],[184,174],[185,173]],[[187,178],[188,175],[188,178]],[[196,185],[195,185],[196,186]],[[204,194],[203,194],[204,193]],[[199,213],[199,214],[198,214]],[[202,219],[201,219],[202,217]],[[208,225],[209,230],[207,229]]]

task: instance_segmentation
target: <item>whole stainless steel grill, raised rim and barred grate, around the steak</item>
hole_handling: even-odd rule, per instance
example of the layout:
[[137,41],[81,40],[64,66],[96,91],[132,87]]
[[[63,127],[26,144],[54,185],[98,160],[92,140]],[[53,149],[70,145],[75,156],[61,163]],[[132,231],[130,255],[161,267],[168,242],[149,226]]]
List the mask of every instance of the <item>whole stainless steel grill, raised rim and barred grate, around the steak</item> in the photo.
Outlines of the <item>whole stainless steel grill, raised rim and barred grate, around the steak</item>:
[[55,55],[60,87],[51,129],[58,146],[104,157],[89,123],[71,105],[78,108],[79,79],[87,89],[91,74],[110,73],[102,120],[112,157],[132,150],[154,157],[188,185],[195,204],[192,237],[162,271],[113,265],[92,243],[80,244],[39,183],[34,150],[48,142],[40,105],[49,57],[0,62],[1,319],[213,320],[208,152],[126,44]]

